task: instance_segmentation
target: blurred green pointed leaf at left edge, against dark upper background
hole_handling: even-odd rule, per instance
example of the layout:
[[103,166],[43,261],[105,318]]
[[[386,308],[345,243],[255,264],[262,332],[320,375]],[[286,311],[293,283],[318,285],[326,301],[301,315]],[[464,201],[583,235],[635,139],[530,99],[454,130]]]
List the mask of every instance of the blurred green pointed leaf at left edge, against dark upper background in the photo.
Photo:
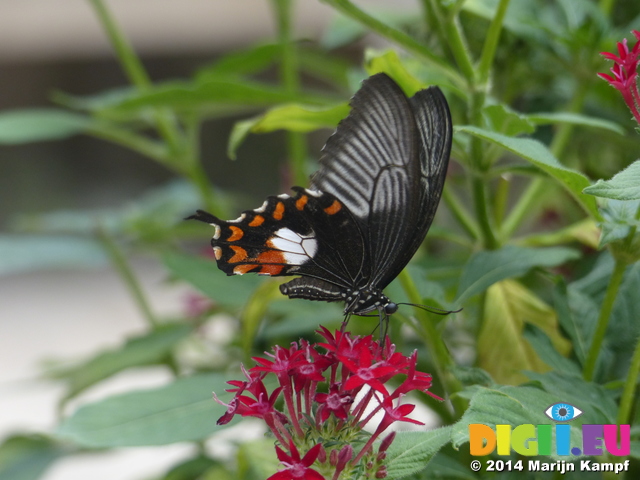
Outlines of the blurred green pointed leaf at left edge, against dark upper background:
[[84,132],[91,119],[55,109],[14,110],[0,113],[0,145],[60,140]]

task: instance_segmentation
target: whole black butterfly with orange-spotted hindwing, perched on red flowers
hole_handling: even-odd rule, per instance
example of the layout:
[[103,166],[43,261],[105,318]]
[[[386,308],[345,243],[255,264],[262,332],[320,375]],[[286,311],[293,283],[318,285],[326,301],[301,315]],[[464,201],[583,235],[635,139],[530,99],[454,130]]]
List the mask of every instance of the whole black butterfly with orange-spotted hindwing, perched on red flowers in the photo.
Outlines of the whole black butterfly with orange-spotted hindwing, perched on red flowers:
[[235,220],[202,210],[227,275],[299,275],[289,298],[343,301],[344,313],[398,309],[383,289],[424,240],[451,151],[452,124],[438,87],[407,98],[386,74],[363,81],[349,115],[322,149],[309,188],[270,196]]

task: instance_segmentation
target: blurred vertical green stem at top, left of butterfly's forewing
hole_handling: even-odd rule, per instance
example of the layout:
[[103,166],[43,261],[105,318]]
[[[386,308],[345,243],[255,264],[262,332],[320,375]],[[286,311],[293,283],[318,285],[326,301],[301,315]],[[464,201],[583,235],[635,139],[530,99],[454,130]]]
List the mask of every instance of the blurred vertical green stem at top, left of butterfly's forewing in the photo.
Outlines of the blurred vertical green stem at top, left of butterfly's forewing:
[[[300,90],[298,51],[291,33],[292,3],[292,0],[272,0],[278,22],[278,42],[282,49],[280,78],[285,90],[291,95]],[[294,183],[306,185],[307,146],[304,134],[288,131],[286,135]]]

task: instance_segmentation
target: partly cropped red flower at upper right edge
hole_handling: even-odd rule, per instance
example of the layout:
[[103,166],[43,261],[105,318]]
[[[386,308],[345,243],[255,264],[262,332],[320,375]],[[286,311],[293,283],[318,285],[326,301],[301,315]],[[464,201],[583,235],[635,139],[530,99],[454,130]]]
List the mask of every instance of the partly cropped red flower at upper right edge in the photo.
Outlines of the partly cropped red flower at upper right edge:
[[640,124],[640,93],[638,93],[638,61],[640,60],[640,32],[633,30],[631,33],[636,37],[636,44],[629,51],[627,39],[618,42],[618,54],[602,52],[601,54],[614,61],[611,68],[613,76],[606,73],[599,73],[598,76],[617,89],[624,98],[625,103],[631,110],[631,113]]

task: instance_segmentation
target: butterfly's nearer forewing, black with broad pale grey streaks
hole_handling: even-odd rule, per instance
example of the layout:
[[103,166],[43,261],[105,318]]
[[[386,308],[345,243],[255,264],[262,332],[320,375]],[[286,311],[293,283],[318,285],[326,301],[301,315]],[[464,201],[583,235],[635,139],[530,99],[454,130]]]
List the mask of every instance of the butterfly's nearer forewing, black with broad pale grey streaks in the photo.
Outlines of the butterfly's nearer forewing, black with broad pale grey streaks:
[[354,95],[312,178],[312,188],[335,195],[362,225],[372,264],[367,283],[379,288],[413,254],[405,249],[420,224],[419,144],[409,100],[388,76],[374,75]]

